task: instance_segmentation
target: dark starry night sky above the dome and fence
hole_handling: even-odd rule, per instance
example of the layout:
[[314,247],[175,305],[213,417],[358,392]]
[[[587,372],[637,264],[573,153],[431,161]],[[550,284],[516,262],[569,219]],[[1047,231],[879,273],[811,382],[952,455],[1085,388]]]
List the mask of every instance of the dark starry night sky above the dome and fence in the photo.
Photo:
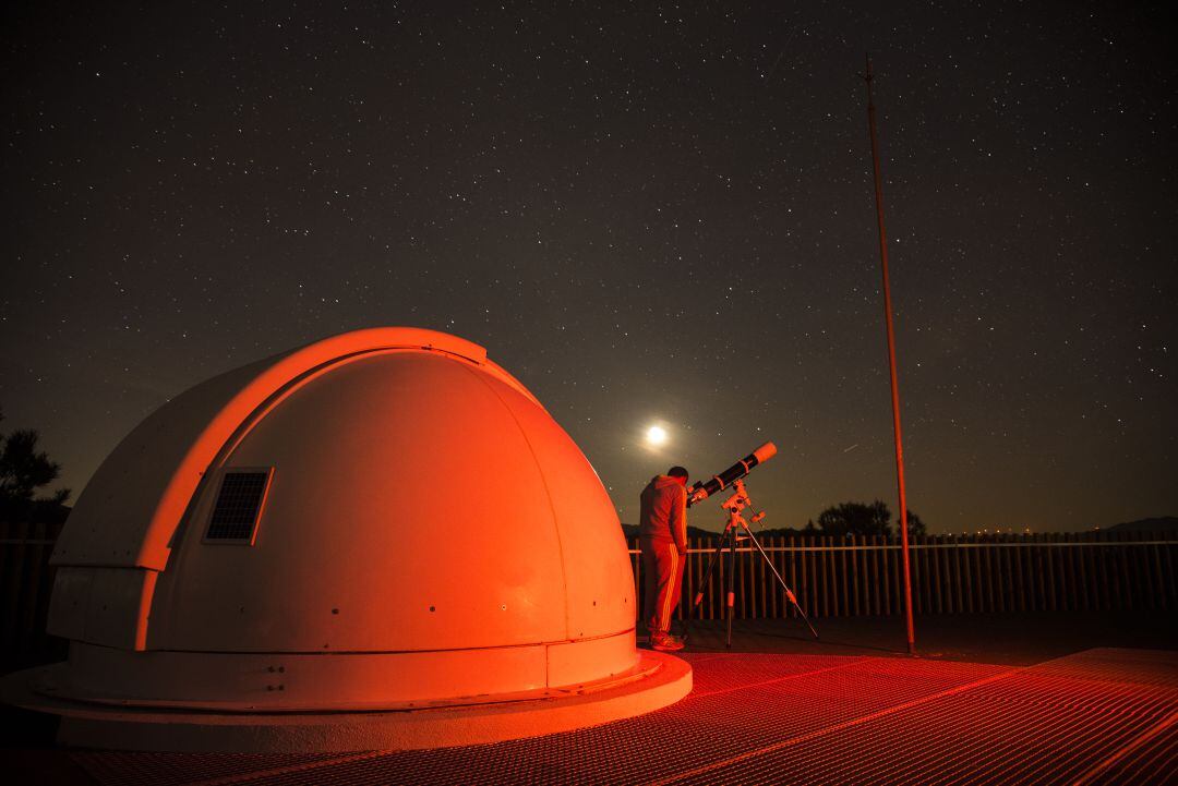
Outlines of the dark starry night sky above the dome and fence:
[[1178,514],[1163,5],[118,5],[0,12],[0,431],[75,495],[193,384],[410,325],[485,346],[623,521],[767,439],[765,526],[894,509],[869,49],[911,507]]

